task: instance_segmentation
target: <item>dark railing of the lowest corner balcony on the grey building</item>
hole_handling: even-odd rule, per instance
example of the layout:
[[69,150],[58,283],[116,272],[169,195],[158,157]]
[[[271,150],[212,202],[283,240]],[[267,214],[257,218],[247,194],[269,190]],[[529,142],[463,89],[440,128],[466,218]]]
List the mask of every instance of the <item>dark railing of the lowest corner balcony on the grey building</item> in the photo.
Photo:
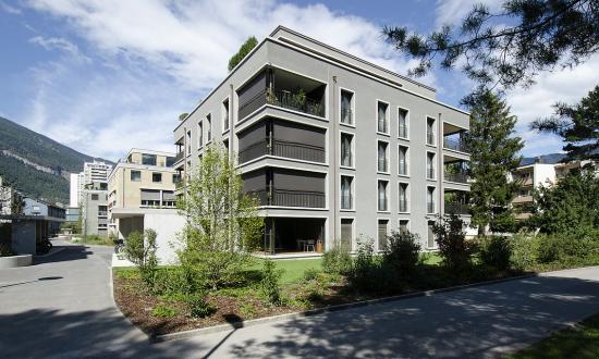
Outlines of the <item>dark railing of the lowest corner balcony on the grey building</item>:
[[259,189],[249,191],[260,206],[325,208],[325,193],[290,189]]

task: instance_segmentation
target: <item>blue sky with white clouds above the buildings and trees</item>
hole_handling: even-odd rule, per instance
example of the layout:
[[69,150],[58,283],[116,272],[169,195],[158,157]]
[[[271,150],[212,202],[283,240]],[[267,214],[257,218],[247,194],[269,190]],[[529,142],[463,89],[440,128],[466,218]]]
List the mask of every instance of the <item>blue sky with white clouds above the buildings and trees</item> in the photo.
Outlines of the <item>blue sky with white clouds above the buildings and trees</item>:
[[[0,115],[90,156],[115,160],[131,147],[172,151],[179,113],[222,79],[249,35],[264,38],[282,24],[405,74],[413,63],[382,41],[381,27],[428,32],[459,21],[473,2],[0,0]],[[555,101],[586,95],[598,66],[592,57],[508,95],[526,140],[523,154],[561,150],[558,138],[528,132],[527,124]],[[459,71],[420,81],[452,106],[472,88]]]

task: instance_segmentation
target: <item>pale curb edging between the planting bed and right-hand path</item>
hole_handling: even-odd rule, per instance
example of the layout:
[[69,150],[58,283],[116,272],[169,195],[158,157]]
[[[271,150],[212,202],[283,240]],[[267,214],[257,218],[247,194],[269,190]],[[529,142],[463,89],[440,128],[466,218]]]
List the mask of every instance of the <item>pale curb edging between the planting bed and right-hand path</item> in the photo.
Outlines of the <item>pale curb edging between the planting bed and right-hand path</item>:
[[432,295],[441,294],[441,293],[447,293],[447,292],[454,292],[454,290],[472,288],[472,287],[489,285],[489,284],[496,284],[496,283],[502,283],[502,282],[509,282],[509,281],[524,280],[524,278],[527,278],[527,277],[533,277],[533,276],[538,276],[538,275],[539,275],[539,273],[530,273],[530,274],[511,276],[511,277],[492,280],[492,281],[482,281],[482,282],[470,283],[470,284],[462,284],[462,285],[444,287],[444,288],[438,288],[438,289],[429,289],[429,290],[423,290],[423,292],[402,294],[402,295],[398,295],[398,296],[382,297],[382,298],[376,298],[376,299],[354,301],[354,302],[349,302],[349,304],[343,304],[343,305],[335,305],[335,306],[309,309],[309,310],[305,310],[305,311],[298,311],[298,312],[280,314],[280,315],[250,319],[250,320],[235,322],[235,323],[229,323],[229,324],[219,324],[219,325],[213,325],[213,326],[199,327],[199,329],[182,331],[182,332],[176,332],[176,333],[169,333],[169,334],[161,334],[161,335],[151,335],[151,334],[147,334],[147,333],[144,333],[144,334],[146,334],[148,336],[148,341],[150,343],[171,342],[171,341],[184,339],[184,338],[190,338],[190,337],[195,337],[195,336],[201,336],[201,335],[206,335],[206,334],[228,332],[228,331],[231,331],[231,330],[237,330],[237,329],[241,329],[241,327],[254,326],[254,325],[259,325],[259,324],[282,322],[282,321],[288,321],[288,320],[297,320],[297,319],[307,318],[307,317],[317,315],[317,314],[322,314],[322,313],[328,313],[328,312],[335,312],[335,311],[341,311],[341,310],[346,310],[346,309],[367,307],[367,306],[384,304],[384,302],[390,302],[390,301],[398,301],[398,300],[402,300],[402,299],[411,299],[411,298],[417,298],[417,297],[428,297],[428,296],[432,296]]

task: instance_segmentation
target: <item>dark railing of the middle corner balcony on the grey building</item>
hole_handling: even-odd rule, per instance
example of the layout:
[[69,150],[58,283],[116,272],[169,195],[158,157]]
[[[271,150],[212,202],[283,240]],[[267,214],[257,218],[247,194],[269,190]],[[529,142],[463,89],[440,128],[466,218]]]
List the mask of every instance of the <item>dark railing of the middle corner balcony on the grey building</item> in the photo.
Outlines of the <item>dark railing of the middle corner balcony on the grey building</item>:
[[240,151],[240,163],[245,163],[265,154],[291,158],[296,160],[325,162],[325,147],[273,139],[257,141]]

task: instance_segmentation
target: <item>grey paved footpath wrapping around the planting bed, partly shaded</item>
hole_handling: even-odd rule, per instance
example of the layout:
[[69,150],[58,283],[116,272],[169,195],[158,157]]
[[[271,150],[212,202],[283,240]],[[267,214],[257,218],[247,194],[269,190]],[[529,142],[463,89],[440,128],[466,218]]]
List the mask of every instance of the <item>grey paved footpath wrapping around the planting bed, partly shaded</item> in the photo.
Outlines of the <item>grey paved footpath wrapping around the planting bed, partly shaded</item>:
[[587,268],[150,345],[114,308],[111,251],[0,270],[0,357],[500,357],[599,312]]

